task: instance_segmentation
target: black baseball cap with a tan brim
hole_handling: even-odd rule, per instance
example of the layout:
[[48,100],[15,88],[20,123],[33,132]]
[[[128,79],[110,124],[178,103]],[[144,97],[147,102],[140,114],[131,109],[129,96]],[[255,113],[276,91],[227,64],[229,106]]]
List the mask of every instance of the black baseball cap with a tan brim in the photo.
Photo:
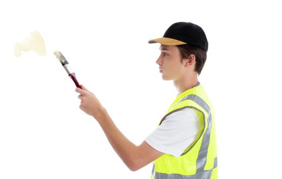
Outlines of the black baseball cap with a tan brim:
[[161,38],[148,41],[149,43],[161,43],[166,46],[190,44],[208,52],[208,40],[200,26],[193,23],[179,22],[171,25]]

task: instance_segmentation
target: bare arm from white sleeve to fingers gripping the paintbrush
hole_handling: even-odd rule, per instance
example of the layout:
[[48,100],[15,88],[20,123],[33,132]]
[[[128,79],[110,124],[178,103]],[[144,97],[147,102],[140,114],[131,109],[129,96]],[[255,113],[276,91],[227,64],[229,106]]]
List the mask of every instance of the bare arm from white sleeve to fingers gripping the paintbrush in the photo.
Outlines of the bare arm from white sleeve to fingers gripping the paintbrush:
[[97,120],[113,149],[130,170],[136,171],[164,154],[152,148],[145,141],[136,146],[128,140],[116,127],[107,110],[100,104],[95,95],[83,85],[81,87],[82,89],[75,89],[76,92],[81,94],[79,95],[79,99],[81,99],[80,108]]

